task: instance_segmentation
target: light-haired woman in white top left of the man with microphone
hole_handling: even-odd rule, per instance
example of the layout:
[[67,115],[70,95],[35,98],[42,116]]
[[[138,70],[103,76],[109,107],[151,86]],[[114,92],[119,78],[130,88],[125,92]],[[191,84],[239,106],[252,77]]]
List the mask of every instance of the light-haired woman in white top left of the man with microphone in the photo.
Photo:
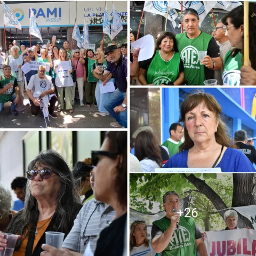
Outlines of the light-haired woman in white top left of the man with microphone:
[[143,220],[132,222],[130,231],[130,256],[155,256],[156,252],[147,238],[147,224]]

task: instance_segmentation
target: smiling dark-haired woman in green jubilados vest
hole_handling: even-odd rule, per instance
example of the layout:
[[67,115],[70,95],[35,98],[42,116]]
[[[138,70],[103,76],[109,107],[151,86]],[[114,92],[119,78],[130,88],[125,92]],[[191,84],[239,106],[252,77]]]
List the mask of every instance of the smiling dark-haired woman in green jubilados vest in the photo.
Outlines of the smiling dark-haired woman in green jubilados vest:
[[180,59],[175,35],[165,32],[156,42],[156,54],[141,61],[139,81],[142,85],[181,85],[184,81],[183,62]]

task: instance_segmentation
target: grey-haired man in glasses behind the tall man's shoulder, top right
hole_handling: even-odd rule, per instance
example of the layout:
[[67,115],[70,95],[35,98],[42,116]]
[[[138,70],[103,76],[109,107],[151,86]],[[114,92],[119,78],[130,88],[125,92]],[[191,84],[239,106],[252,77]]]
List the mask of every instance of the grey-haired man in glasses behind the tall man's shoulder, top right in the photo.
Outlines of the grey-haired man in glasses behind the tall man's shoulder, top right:
[[214,71],[214,78],[218,80],[218,84],[222,85],[222,73],[224,70],[224,59],[226,56],[226,53],[230,50],[232,50],[234,47],[231,47],[228,36],[226,36],[224,25],[221,22],[221,20],[218,21],[216,27],[215,27],[215,33],[214,38],[217,41],[217,44],[220,46],[220,58],[222,60],[221,68]]

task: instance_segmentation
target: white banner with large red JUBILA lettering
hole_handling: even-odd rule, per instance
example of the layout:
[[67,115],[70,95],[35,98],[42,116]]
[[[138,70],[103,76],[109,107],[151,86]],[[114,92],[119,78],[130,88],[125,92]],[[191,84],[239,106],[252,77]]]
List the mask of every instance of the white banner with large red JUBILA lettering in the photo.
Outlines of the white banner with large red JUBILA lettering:
[[209,256],[256,255],[256,231],[253,229],[205,232],[204,243]]

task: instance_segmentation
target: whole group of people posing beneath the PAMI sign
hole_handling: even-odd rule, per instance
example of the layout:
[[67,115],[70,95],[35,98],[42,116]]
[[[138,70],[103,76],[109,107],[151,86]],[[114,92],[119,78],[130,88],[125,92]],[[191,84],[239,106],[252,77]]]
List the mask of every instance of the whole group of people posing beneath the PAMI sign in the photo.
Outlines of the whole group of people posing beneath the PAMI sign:
[[[33,115],[39,114],[39,109],[44,106],[44,97],[48,104],[53,95],[56,101],[49,107],[49,115],[57,118],[58,112],[64,108],[71,114],[75,101],[78,101],[75,94],[77,86],[81,107],[84,107],[85,98],[86,107],[91,107],[93,103],[99,115],[110,114],[116,119],[116,122],[110,123],[111,126],[127,128],[127,44],[118,47],[116,43],[111,43],[104,49],[101,43],[94,53],[92,49],[71,51],[68,41],[63,42],[63,49],[59,49],[55,43],[56,38],[53,37],[51,44],[48,42],[42,47],[37,44],[26,48],[25,45],[17,46],[13,41],[6,53],[0,47],[0,65],[3,70],[0,76],[0,111],[8,101],[12,101],[12,115],[17,116],[19,111],[25,110],[23,92],[27,90]],[[38,70],[29,70],[24,74],[21,67],[30,61],[40,62],[41,66]],[[66,72],[59,67],[63,61],[67,61]],[[98,66],[102,66],[102,69],[99,70]],[[10,74],[6,75],[6,69],[10,69]],[[101,87],[110,82],[112,89],[105,92]],[[38,95],[36,91],[41,94]],[[37,107],[36,111],[34,106]]]

